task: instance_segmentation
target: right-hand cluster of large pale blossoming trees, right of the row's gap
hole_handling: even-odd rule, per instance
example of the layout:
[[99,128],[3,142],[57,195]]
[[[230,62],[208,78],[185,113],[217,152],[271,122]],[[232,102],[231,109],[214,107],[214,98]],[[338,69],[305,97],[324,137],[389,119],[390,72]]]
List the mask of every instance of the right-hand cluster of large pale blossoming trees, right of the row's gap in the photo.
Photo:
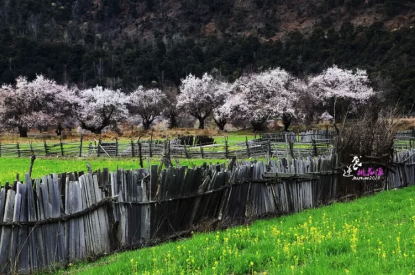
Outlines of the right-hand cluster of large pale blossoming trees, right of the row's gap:
[[348,106],[353,113],[377,96],[366,71],[344,70],[333,66],[307,80],[298,79],[276,68],[248,74],[234,83],[226,83],[204,74],[201,79],[189,75],[182,81],[177,107],[199,120],[212,115],[220,130],[229,120],[244,120],[254,130],[262,130],[270,118],[282,118],[285,130],[292,119],[304,121],[319,106],[330,107],[334,116],[336,103]]

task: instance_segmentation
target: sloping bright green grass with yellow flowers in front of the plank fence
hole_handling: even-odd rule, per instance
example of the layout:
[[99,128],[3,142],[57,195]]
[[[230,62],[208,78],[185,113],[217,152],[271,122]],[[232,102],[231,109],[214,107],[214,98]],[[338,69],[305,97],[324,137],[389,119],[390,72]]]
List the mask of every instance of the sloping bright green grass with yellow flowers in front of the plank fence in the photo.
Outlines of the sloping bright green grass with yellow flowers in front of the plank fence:
[[415,187],[78,263],[60,274],[414,274]]

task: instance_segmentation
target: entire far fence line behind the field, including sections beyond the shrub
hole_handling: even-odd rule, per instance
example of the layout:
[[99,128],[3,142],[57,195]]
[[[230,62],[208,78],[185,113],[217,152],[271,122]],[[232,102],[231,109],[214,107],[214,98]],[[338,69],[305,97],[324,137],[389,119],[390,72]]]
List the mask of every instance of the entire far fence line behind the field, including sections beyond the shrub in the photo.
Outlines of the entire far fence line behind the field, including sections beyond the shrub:
[[[227,159],[257,157],[265,154],[292,157],[308,155],[330,155],[332,150],[333,131],[309,130],[303,133],[264,133],[259,139],[246,140],[237,144],[188,146],[177,144],[175,140],[168,142],[168,150],[173,158],[205,158]],[[395,151],[406,151],[415,145],[415,131],[398,131],[395,140]],[[290,142],[294,146],[290,147]],[[85,141],[51,143],[13,143],[2,144],[0,140],[0,157],[67,156],[67,157],[153,157],[161,155],[164,150],[163,140],[141,141]]]

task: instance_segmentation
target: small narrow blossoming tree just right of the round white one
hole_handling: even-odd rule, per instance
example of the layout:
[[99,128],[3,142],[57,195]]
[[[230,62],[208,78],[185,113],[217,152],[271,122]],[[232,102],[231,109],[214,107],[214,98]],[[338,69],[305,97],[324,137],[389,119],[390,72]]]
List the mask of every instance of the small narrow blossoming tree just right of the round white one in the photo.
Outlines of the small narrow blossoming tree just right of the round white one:
[[166,104],[166,95],[158,88],[144,89],[139,86],[130,94],[129,111],[139,115],[144,129],[149,129],[151,123],[160,116]]

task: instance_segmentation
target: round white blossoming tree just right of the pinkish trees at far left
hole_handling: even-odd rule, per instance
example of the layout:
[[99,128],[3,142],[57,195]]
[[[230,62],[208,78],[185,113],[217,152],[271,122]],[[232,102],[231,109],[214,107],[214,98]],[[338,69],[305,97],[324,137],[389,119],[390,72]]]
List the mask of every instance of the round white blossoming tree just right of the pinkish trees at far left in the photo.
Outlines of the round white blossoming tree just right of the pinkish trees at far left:
[[85,130],[99,134],[108,126],[116,128],[117,123],[127,118],[129,96],[120,90],[96,86],[74,93],[79,108],[76,118]]

